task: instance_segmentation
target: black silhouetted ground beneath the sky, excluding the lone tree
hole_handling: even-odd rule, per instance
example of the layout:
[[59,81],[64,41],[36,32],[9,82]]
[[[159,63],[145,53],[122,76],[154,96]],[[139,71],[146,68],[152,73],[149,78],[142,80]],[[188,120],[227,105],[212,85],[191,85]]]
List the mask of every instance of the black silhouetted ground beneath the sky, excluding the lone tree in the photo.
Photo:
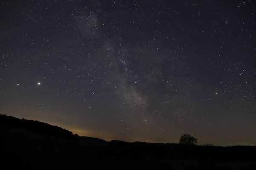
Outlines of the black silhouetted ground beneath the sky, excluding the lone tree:
[[[256,146],[105,142],[0,115],[1,169],[255,170]],[[62,135],[56,135],[59,132]]]

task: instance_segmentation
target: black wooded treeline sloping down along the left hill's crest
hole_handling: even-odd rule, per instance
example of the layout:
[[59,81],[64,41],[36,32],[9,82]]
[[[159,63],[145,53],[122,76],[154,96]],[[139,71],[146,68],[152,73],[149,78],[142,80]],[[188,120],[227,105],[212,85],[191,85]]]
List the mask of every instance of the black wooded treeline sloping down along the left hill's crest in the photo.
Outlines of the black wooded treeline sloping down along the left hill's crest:
[[72,140],[90,140],[94,142],[105,142],[103,139],[73,135],[69,130],[63,129],[58,126],[49,125],[48,123],[39,122],[37,120],[18,119],[13,116],[7,116],[6,114],[0,114],[0,124],[18,127],[21,129],[30,130],[33,132],[41,133],[44,135],[54,136],[61,139]]

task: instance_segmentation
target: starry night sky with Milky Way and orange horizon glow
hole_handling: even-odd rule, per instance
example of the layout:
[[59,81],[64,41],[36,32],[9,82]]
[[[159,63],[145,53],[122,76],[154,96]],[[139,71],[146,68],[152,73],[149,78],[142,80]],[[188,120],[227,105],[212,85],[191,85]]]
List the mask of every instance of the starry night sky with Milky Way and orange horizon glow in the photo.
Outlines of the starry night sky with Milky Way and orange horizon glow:
[[107,141],[256,145],[255,9],[1,0],[0,113]]

